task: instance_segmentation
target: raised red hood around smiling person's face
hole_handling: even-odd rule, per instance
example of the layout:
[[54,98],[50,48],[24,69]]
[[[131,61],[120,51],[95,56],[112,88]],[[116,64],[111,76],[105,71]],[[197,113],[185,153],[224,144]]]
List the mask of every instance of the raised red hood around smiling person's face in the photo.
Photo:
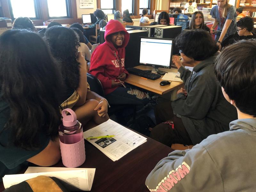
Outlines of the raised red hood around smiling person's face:
[[106,31],[105,31],[104,38],[105,38],[105,41],[107,42],[108,46],[110,46],[111,48],[115,48],[115,46],[113,45],[113,43],[110,39],[110,35],[113,33],[123,31],[124,32],[124,41],[123,41],[123,44],[120,46],[120,48],[126,47],[126,45],[129,42],[129,39],[130,39],[130,34],[126,31],[124,26],[118,20],[108,21],[108,24],[106,25],[105,28],[106,28]]

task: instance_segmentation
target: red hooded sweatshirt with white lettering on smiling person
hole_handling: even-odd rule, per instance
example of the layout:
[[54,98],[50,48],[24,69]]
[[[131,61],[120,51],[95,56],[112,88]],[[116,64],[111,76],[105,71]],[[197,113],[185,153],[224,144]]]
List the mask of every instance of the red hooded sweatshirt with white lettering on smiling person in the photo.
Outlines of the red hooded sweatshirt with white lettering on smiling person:
[[[123,44],[116,48],[111,42],[110,35],[120,31],[124,31],[124,40]],[[120,74],[126,73],[126,77],[129,75],[129,73],[124,69],[124,48],[129,42],[130,34],[119,21],[110,20],[106,25],[104,37],[106,41],[103,44],[97,46],[97,48],[92,53],[89,73],[96,76],[100,80],[104,92],[107,95],[117,88],[117,86],[111,86],[112,79],[116,80],[117,82],[119,81],[117,76]],[[121,59],[120,62],[118,62],[119,59]]]

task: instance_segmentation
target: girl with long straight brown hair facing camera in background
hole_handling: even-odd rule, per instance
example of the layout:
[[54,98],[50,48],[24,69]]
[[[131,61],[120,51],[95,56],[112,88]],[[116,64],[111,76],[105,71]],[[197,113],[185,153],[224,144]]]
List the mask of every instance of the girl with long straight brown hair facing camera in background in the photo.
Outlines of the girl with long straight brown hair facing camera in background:
[[204,29],[205,31],[210,32],[210,28],[204,24],[204,15],[201,11],[193,13],[189,26],[186,29]]

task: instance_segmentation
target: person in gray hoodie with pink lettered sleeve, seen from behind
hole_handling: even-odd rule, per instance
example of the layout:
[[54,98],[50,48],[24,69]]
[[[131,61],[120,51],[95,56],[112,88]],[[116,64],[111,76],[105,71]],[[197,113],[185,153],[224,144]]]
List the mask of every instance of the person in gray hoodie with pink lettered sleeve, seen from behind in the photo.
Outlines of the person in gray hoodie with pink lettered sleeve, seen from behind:
[[214,72],[224,97],[236,107],[238,119],[229,124],[229,131],[210,135],[192,149],[176,150],[162,159],[146,179],[149,191],[255,191],[255,52],[255,40],[242,40],[217,56]]

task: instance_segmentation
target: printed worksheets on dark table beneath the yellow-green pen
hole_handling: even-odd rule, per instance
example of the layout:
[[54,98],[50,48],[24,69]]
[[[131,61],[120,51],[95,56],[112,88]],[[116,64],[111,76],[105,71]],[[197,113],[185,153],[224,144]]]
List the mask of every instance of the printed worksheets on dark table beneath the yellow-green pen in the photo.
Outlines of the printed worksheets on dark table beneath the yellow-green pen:
[[147,141],[147,138],[108,119],[108,121],[84,132],[84,138],[115,135],[88,140],[111,160],[116,161]]

